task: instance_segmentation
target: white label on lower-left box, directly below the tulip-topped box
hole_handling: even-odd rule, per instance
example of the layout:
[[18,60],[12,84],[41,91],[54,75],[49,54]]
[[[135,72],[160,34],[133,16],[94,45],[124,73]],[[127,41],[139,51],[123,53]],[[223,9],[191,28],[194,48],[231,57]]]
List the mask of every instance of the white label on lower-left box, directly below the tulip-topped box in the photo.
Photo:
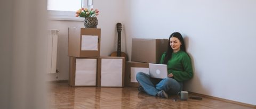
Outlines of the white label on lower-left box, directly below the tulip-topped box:
[[75,86],[96,86],[97,59],[76,58]]

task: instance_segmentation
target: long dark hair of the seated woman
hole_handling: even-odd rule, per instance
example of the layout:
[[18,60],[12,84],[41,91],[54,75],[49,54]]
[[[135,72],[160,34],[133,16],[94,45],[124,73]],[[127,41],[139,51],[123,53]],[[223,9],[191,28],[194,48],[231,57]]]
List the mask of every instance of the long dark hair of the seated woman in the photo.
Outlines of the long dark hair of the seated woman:
[[180,40],[180,43],[181,43],[180,50],[186,52],[186,46],[185,46],[182,35],[180,34],[180,32],[173,32],[169,37],[169,43],[168,43],[168,47],[167,47],[166,55],[164,57],[164,63],[163,64],[167,64],[167,62],[172,58],[173,49],[170,45],[171,37],[178,38]]

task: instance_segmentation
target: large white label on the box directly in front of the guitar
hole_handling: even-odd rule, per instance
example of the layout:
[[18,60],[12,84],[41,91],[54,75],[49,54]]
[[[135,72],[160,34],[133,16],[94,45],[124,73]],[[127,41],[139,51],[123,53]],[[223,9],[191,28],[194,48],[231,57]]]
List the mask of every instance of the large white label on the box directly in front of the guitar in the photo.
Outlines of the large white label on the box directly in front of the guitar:
[[123,59],[101,59],[101,86],[122,87]]

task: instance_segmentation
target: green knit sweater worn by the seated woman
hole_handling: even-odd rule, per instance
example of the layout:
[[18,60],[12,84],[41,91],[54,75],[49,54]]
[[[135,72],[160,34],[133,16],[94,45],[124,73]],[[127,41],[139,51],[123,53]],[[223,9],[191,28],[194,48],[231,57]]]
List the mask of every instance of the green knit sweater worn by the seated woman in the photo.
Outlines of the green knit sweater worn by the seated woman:
[[[166,52],[163,53],[160,64],[164,63]],[[173,74],[173,79],[183,82],[193,77],[193,68],[190,57],[186,52],[172,53],[172,58],[167,62],[168,74]]]

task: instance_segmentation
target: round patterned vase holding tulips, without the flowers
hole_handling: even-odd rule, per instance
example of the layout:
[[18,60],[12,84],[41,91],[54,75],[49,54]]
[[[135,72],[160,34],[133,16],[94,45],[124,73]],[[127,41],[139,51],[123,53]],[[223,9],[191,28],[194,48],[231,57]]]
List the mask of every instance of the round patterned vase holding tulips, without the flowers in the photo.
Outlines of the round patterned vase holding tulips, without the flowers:
[[84,27],[85,28],[97,28],[98,19],[96,17],[87,17],[84,18]]

